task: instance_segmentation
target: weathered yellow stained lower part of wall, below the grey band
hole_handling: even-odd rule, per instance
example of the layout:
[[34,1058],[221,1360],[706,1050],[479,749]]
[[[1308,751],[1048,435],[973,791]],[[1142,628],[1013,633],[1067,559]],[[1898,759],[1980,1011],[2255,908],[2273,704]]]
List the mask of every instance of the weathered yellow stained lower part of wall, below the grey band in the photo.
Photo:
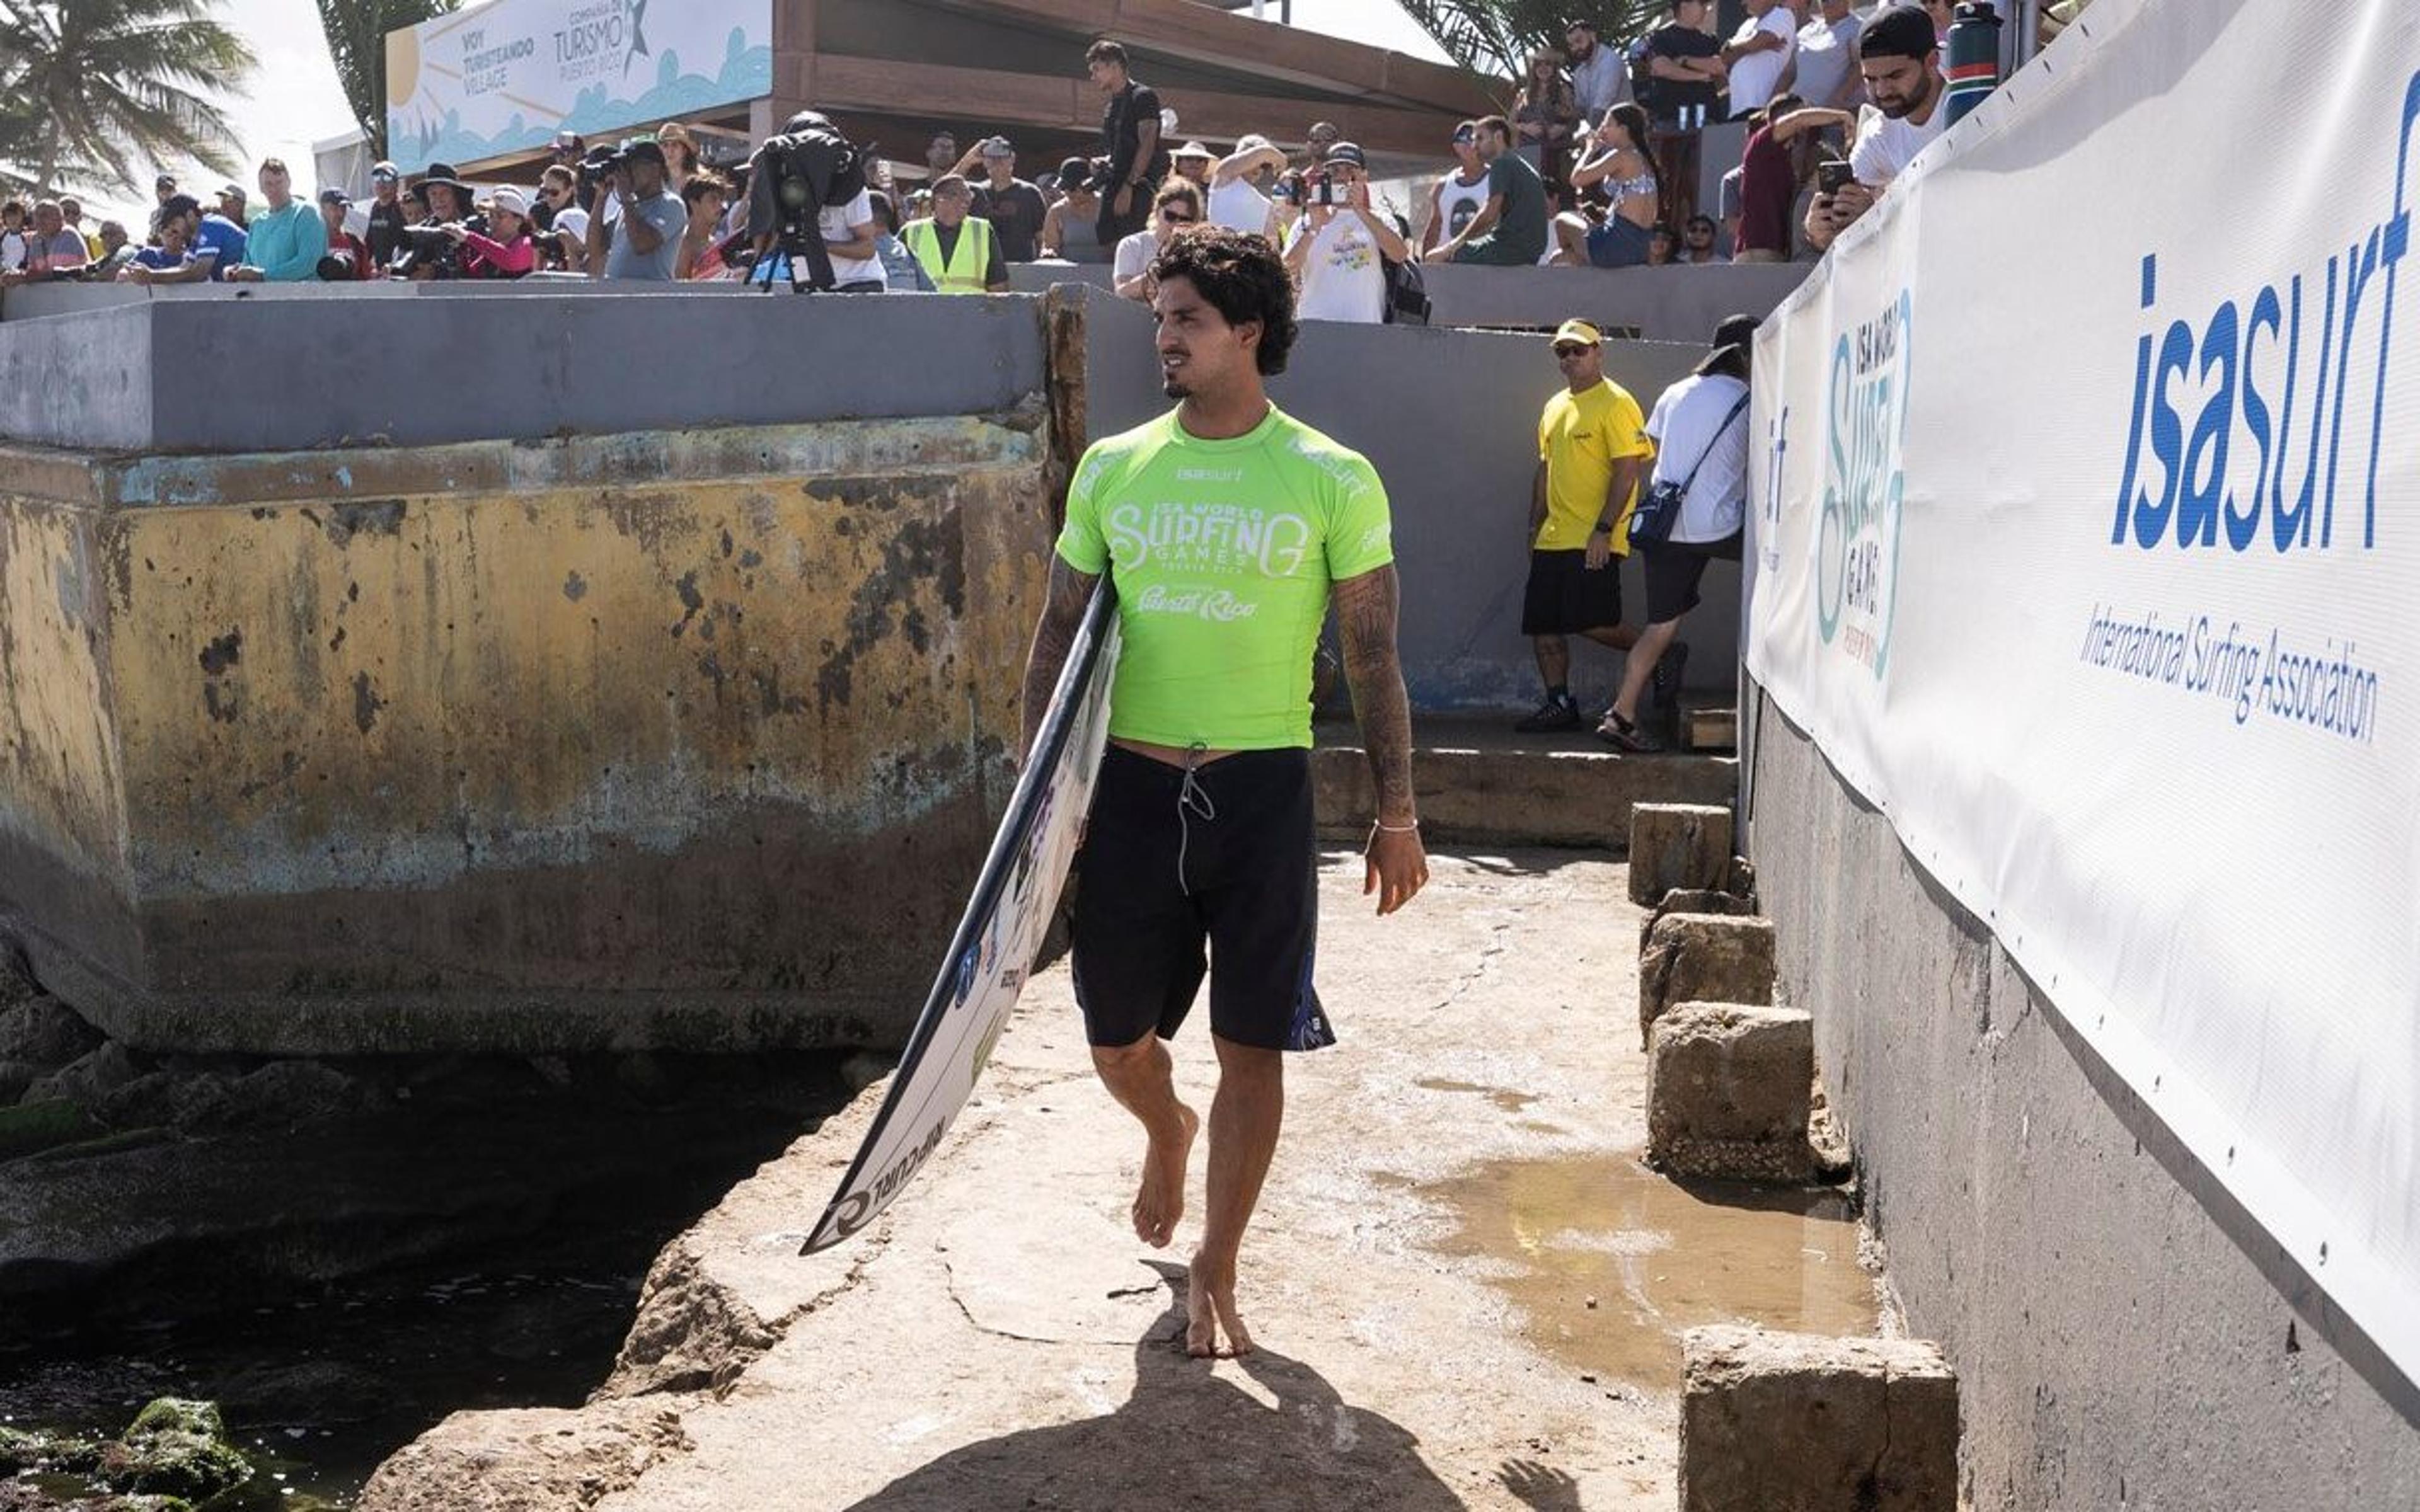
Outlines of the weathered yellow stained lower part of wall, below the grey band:
[[123,910],[60,960],[119,1033],[912,1018],[1007,801],[1038,416],[46,457],[0,496],[0,844]]

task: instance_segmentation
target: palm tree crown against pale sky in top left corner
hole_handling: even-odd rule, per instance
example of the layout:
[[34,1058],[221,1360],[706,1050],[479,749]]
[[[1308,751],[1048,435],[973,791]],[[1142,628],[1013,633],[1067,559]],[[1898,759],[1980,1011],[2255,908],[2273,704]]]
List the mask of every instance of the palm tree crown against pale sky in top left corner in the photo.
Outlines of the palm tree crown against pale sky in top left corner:
[[138,162],[235,169],[235,126],[203,90],[242,85],[252,48],[213,0],[0,0],[0,152],[27,181],[136,191]]

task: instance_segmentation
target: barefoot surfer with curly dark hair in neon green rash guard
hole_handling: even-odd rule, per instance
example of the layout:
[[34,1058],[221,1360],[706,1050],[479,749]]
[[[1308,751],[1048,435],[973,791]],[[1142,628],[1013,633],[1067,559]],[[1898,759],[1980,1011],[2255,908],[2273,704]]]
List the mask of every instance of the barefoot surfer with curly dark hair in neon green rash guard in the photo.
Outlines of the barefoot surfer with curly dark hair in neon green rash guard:
[[1084,832],[1074,989],[1094,1067],[1147,1135],[1135,1236],[1159,1248],[1183,1217],[1200,1127],[1164,1040],[1208,970],[1220,1081],[1186,1287],[1186,1352],[1208,1357],[1251,1350],[1237,1258],[1278,1147],[1283,1055],[1336,1043],[1312,987],[1309,769],[1312,651],[1331,600],[1377,779],[1362,893],[1379,914],[1421,890],[1428,856],[1387,491],[1263,392],[1297,331],[1285,264],[1261,237],[1198,227],[1169,240],[1152,278],[1159,373],[1179,404],[1074,469],[1026,663],[1024,750],[1108,573],[1125,648]]

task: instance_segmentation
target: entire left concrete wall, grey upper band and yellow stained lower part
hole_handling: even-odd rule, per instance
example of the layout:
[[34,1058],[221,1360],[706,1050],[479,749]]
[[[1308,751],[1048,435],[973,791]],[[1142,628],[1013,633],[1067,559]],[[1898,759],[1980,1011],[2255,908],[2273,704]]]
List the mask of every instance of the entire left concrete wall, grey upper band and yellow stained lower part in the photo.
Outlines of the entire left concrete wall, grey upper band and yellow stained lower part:
[[898,1043],[1009,786],[1041,300],[44,293],[0,931],[48,987],[177,1050]]

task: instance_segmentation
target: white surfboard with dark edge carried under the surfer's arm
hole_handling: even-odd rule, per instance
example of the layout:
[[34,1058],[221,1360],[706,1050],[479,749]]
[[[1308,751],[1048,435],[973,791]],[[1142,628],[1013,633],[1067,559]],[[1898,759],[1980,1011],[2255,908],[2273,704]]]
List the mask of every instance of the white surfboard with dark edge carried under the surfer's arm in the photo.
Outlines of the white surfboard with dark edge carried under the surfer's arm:
[[1116,665],[1116,595],[1101,578],[891,1091],[799,1253],[840,1243],[898,1200],[975,1093],[1067,885],[1108,745]]

